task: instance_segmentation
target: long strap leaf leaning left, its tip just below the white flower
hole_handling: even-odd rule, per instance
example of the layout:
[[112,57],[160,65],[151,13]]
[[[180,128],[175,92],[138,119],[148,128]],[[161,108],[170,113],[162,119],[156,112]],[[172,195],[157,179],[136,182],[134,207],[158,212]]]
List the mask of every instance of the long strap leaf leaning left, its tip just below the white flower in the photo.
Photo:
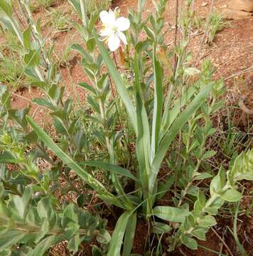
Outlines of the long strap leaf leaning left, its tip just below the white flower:
[[106,63],[109,73],[112,75],[112,79],[114,80],[115,87],[117,87],[119,96],[122,98],[122,101],[124,102],[126,111],[129,114],[129,118],[131,119],[131,124],[133,125],[134,130],[137,131],[136,110],[134,108],[133,103],[131,102],[129,92],[126,89],[126,84],[122,80],[122,77],[120,76],[119,71],[115,67],[115,64],[112,61],[112,58],[110,57],[109,53],[107,52],[107,50],[104,48],[101,41],[97,37],[97,34],[94,34],[94,38],[99,48],[99,52],[101,53],[102,58],[104,59],[104,63]]

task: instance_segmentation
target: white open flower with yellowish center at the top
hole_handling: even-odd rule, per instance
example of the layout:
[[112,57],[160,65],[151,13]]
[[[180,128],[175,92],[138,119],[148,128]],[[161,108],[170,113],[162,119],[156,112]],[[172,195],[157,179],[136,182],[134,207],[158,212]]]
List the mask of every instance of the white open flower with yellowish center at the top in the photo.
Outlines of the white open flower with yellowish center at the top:
[[104,37],[107,41],[110,50],[117,50],[120,46],[120,40],[126,45],[126,36],[123,31],[126,31],[130,27],[130,21],[128,18],[117,17],[118,11],[101,11],[100,19],[103,23],[103,28],[100,31],[100,36]]

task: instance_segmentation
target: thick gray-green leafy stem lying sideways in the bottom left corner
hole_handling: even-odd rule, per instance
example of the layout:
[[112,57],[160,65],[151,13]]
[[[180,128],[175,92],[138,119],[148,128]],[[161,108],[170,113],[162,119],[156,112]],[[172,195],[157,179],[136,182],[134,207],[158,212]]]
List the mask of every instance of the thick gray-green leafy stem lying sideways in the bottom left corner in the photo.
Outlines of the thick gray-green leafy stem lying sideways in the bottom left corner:
[[28,186],[22,196],[9,194],[9,200],[4,200],[7,193],[1,187],[1,252],[19,244],[17,255],[26,247],[26,255],[43,256],[50,246],[68,240],[68,249],[75,253],[80,242],[95,237],[107,242],[109,234],[102,220],[73,203],[55,210],[50,197],[40,198],[40,192],[36,196],[34,189]]

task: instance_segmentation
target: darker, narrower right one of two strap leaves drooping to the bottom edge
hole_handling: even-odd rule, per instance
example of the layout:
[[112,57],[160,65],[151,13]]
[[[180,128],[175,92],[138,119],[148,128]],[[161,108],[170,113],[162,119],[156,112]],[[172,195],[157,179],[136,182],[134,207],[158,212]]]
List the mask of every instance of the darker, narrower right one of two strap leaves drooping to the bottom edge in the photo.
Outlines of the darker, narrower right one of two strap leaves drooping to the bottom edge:
[[133,213],[128,220],[126,225],[126,234],[124,237],[124,249],[123,249],[123,256],[130,256],[131,255],[131,248],[134,245],[134,235],[136,230],[136,221],[137,221],[137,213]]

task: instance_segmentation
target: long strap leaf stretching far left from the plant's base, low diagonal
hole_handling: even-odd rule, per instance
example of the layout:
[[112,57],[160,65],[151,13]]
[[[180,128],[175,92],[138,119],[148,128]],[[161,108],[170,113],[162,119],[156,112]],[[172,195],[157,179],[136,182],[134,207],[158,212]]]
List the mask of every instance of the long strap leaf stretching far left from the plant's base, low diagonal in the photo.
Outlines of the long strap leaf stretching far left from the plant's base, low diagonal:
[[104,201],[108,201],[116,206],[121,208],[127,208],[120,199],[115,198],[111,193],[107,191],[106,188],[97,181],[91,174],[87,173],[82,167],[80,167],[68,154],[66,154],[62,149],[60,149],[53,139],[51,139],[48,134],[46,134],[41,127],[36,124],[36,122],[31,119],[31,117],[26,117],[29,124],[33,128],[34,132],[40,137],[43,142],[58,156],[67,166],[69,166],[75,173],[84,179],[95,191],[97,191],[99,198],[102,198]]

